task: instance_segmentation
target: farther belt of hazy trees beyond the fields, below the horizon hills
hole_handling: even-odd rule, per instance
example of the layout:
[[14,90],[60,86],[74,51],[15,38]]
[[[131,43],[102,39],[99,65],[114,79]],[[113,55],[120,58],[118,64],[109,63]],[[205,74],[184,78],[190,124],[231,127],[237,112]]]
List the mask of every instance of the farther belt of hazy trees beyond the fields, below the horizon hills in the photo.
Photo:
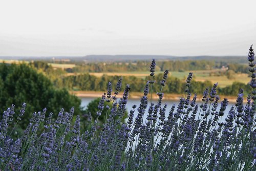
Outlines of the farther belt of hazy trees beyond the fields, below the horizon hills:
[[[77,73],[86,72],[125,72],[125,71],[148,71],[148,61],[137,62],[96,62],[96,63],[77,63],[73,71]],[[212,70],[227,67],[239,73],[248,73],[248,66],[239,63],[227,63],[211,60],[174,60],[157,61],[156,71],[195,71]]]

